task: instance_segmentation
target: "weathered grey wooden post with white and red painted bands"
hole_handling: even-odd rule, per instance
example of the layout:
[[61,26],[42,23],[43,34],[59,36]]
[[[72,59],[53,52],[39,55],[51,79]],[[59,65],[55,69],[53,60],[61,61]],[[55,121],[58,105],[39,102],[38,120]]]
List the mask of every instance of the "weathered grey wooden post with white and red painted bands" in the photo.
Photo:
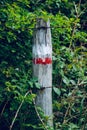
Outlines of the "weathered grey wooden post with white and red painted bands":
[[50,22],[37,19],[33,44],[33,76],[41,86],[36,105],[49,116],[47,124],[53,126],[52,119],[52,43]]

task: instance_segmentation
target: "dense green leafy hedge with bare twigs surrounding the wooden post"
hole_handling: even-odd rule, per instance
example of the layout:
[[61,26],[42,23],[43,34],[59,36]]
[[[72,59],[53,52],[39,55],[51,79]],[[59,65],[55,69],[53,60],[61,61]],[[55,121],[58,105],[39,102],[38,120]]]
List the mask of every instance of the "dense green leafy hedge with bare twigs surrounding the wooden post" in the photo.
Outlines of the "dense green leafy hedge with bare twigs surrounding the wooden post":
[[87,129],[86,7],[86,0],[0,1],[0,130],[43,130],[47,120],[34,103],[36,18],[51,23],[54,130]]

